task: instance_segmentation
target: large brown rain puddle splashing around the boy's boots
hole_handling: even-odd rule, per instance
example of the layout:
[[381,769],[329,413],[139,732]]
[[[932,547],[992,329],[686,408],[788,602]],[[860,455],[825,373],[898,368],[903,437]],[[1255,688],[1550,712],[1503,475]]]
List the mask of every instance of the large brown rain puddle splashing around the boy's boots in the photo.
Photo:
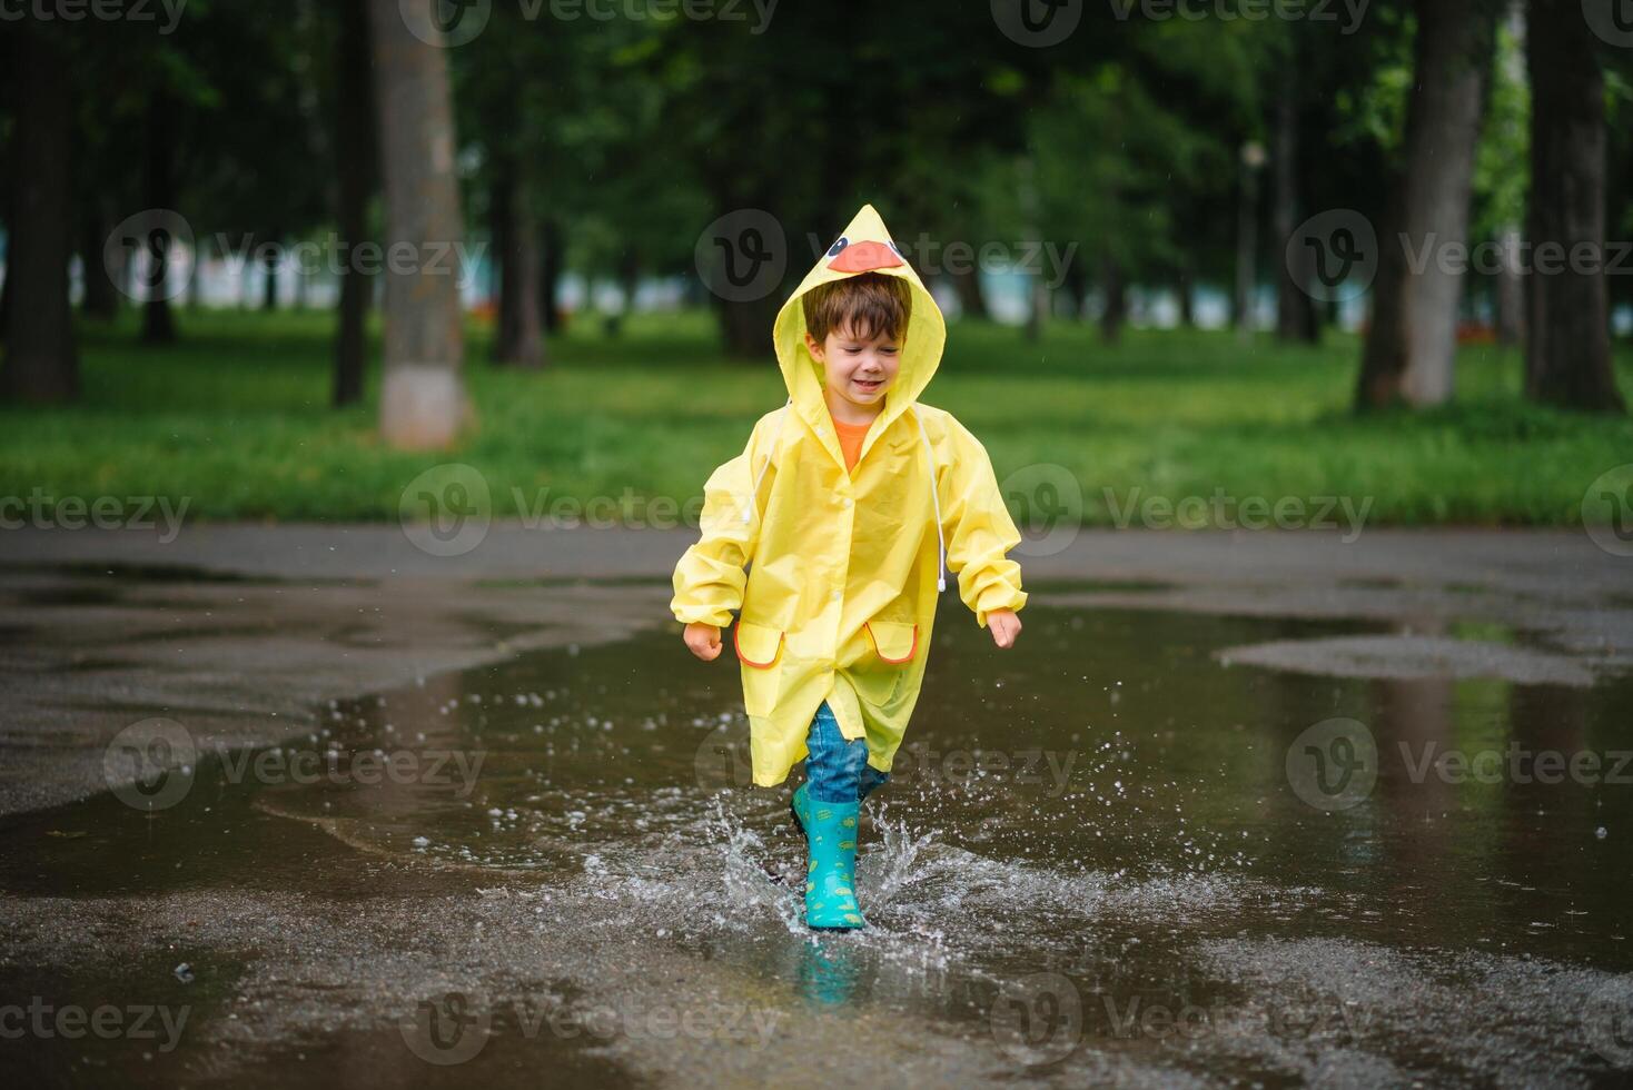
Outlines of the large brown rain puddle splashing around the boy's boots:
[[[482,920],[461,927],[488,928],[487,973],[501,974],[506,943],[549,938],[599,966],[576,986],[604,1002],[751,1002],[776,1015],[779,1041],[818,1049],[823,1020],[839,1018],[865,1035],[869,1062],[923,1052],[965,1082],[1633,1069],[1592,1030],[1595,989],[1633,969],[1633,764],[1617,769],[1626,783],[1605,782],[1613,754],[1633,751],[1626,677],[1329,677],[1217,659],[1370,623],[1047,607],[1026,620],[1022,649],[998,654],[944,609],[895,778],[867,808],[859,894],[872,925],[857,935],[805,932],[787,788],[746,786],[735,664],[697,664],[671,633],[335,702],[322,729],[279,751],[204,754],[186,798],[155,814],[100,796],[11,819],[0,888],[297,894],[359,920],[376,901],[423,897]],[[1305,731],[1329,720],[1362,724],[1378,754],[1375,786],[1344,808],[1305,801],[1288,773]],[[1592,751],[1600,778],[1489,782],[1432,764],[1515,747]],[[367,754],[412,754],[416,772],[363,783]],[[343,772],[297,782],[287,770],[304,755]],[[630,982],[630,966],[650,971]],[[371,969],[358,971],[366,994]],[[397,971],[372,969],[402,990]],[[523,987],[506,979],[483,987]],[[1489,1017],[1403,1017],[1426,981],[1442,1008]],[[1522,981],[1525,1005],[1478,1005],[1493,981]],[[1295,994],[1341,1018],[1277,1028]],[[304,1077],[297,1054],[389,1051],[379,1026],[397,1010],[376,1013],[372,1026],[273,1039],[255,1075],[234,1077],[287,1080]],[[220,1018],[202,1012],[193,1048],[211,1048]],[[684,1070],[691,1046],[625,1035],[573,1070],[640,1082]],[[534,1085],[536,1048],[495,1030],[480,1066],[447,1070]],[[405,1062],[394,1069],[420,1070]],[[750,1082],[787,1051],[733,1062]]]

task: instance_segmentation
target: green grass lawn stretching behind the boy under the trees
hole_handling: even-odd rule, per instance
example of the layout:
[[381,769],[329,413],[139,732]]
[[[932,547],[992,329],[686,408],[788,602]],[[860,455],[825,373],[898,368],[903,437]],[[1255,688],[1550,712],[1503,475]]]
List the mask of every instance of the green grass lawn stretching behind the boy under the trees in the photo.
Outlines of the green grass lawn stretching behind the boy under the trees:
[[[464,462],[487,476],[500,516],[518,512],[518,494],[524,506],[625,491],[684,501],[785,398],[772,361],[725,361],[701,313],[643,315],[617,339],[581,323],[531,375],[492,367],[488,333],[474,326],[477,429],[451,452],[402,454],[379,444],[372,400],[328,406],[328,315],[178,317],[183,339],[163,351],[136,344],[134,315],[82,328],[82,401],[0,410],[0,496],[186,498],[189,517],[207,519],[395,519],[421,470]],[[1372,498],[1372,524],[1573,524],[1587,485],[1633,460],[1633,418],[1525,405],[1514,351],[1465,349],[1447,408],[1370,418],[1349,413],[1357,359],[1341,335],[1243,349],[1225,333],[1133,331],[1106,348],[1065,323],[1040,344],[959,323],[924,400],[986,444],[999,478],[1063,467],[1091,524],[1112,521],[1107,490],[1119,504],[1215,490]],[[1618,369],[1633,400],[1626,351]]]

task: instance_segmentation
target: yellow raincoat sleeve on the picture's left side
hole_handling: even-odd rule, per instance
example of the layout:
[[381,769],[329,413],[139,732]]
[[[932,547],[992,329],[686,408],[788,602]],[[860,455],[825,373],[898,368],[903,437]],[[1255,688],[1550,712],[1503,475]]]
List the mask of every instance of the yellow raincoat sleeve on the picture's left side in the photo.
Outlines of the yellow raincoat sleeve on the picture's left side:
[[[754,426],[743,454],[710,473],[704,485],[704,509],[699,516],[702,535],[674,565],[674,599],[670,610],[683,625],[725,628],[732,623],[732,610],[743,605],[743,587],[748,584],[743,566],[759,542],[753,490],[754,468],[763,457],[758,442],[761,424]],[[745,511],[750,512],[746,522]]]

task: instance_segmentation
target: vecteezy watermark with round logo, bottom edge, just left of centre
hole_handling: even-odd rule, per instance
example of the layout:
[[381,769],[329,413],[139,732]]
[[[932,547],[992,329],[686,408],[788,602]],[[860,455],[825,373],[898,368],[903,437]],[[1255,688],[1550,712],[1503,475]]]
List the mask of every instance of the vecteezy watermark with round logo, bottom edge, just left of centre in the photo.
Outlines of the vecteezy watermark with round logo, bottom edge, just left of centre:
[[452,1066],[475,1059],[493,1035],[495,1018],[514,1023],[523,1038],[542,1033],[560,1041],[604,1046],[614,1039],[719,1041],[753,1051],[771,1046],[781,1010],[748,1004],[580,1005],[557,995],[488,1000],[447,992],[423,999],[398,1021],[403,1044],[428,1064]]

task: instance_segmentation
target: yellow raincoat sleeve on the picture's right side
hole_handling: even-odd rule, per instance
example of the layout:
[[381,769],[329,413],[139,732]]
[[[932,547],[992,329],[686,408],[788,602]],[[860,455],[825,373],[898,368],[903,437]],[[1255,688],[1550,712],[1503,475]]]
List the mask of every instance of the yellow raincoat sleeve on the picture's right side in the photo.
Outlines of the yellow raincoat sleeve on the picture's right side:
[[950,503],[941,511],[947,535],[947,569],[959,576],[959,597],[975,610],[975,623],[986,627],[994,609],[1019,610],[1026,605],[1021,565],[1004,553],[1021,543],[986,447],[954,423],[949,429],[952,463],[947,467]]

